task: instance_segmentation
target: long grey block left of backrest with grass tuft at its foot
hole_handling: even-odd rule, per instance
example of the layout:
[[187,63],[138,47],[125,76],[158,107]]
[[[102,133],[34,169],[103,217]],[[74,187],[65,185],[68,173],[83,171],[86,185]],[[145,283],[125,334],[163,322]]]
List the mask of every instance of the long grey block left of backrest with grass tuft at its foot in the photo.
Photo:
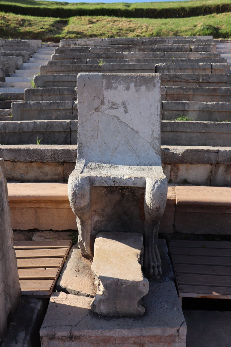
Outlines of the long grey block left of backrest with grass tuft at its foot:
[[[7,123],[7,124],[6,124]],[[70,120],[33,120],[0,122],[4,144],[70,144]]]

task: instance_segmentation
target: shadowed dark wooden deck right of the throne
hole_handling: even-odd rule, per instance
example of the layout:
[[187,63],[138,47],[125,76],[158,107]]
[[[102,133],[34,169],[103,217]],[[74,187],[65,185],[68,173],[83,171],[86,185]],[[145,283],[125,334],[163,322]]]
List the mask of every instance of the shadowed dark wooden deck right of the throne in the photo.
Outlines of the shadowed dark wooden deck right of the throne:
[[231,299],[231,242],[171,240],[179,299]]

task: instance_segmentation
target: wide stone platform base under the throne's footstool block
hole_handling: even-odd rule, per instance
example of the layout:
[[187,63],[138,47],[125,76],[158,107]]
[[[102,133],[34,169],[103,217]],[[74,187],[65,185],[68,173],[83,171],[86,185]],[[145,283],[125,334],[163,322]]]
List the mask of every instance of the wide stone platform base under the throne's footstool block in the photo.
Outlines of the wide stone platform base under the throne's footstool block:
[[90,310],[91,301],[53,293],[40,330],[41,346],[186,347],[186,323],[172,281],[150,286],[139,318],[99,316]]

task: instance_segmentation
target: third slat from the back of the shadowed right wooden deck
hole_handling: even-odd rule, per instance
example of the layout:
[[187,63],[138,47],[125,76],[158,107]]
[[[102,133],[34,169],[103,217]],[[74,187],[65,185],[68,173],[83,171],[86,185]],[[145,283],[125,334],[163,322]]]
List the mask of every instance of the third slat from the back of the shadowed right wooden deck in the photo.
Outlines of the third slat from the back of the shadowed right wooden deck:
[[230,258],[223,258],[223,257],[172,255],[172,259],[174,263],[176,264],[230,266]]

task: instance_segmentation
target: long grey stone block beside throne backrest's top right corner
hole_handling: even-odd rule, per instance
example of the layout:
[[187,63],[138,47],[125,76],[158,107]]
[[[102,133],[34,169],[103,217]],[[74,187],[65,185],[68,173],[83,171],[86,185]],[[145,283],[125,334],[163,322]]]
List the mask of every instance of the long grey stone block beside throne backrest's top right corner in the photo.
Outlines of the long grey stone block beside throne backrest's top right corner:
[[219,74],[164,74],[161,73],[163,86],[190,87],[230,87],[231,75]]

